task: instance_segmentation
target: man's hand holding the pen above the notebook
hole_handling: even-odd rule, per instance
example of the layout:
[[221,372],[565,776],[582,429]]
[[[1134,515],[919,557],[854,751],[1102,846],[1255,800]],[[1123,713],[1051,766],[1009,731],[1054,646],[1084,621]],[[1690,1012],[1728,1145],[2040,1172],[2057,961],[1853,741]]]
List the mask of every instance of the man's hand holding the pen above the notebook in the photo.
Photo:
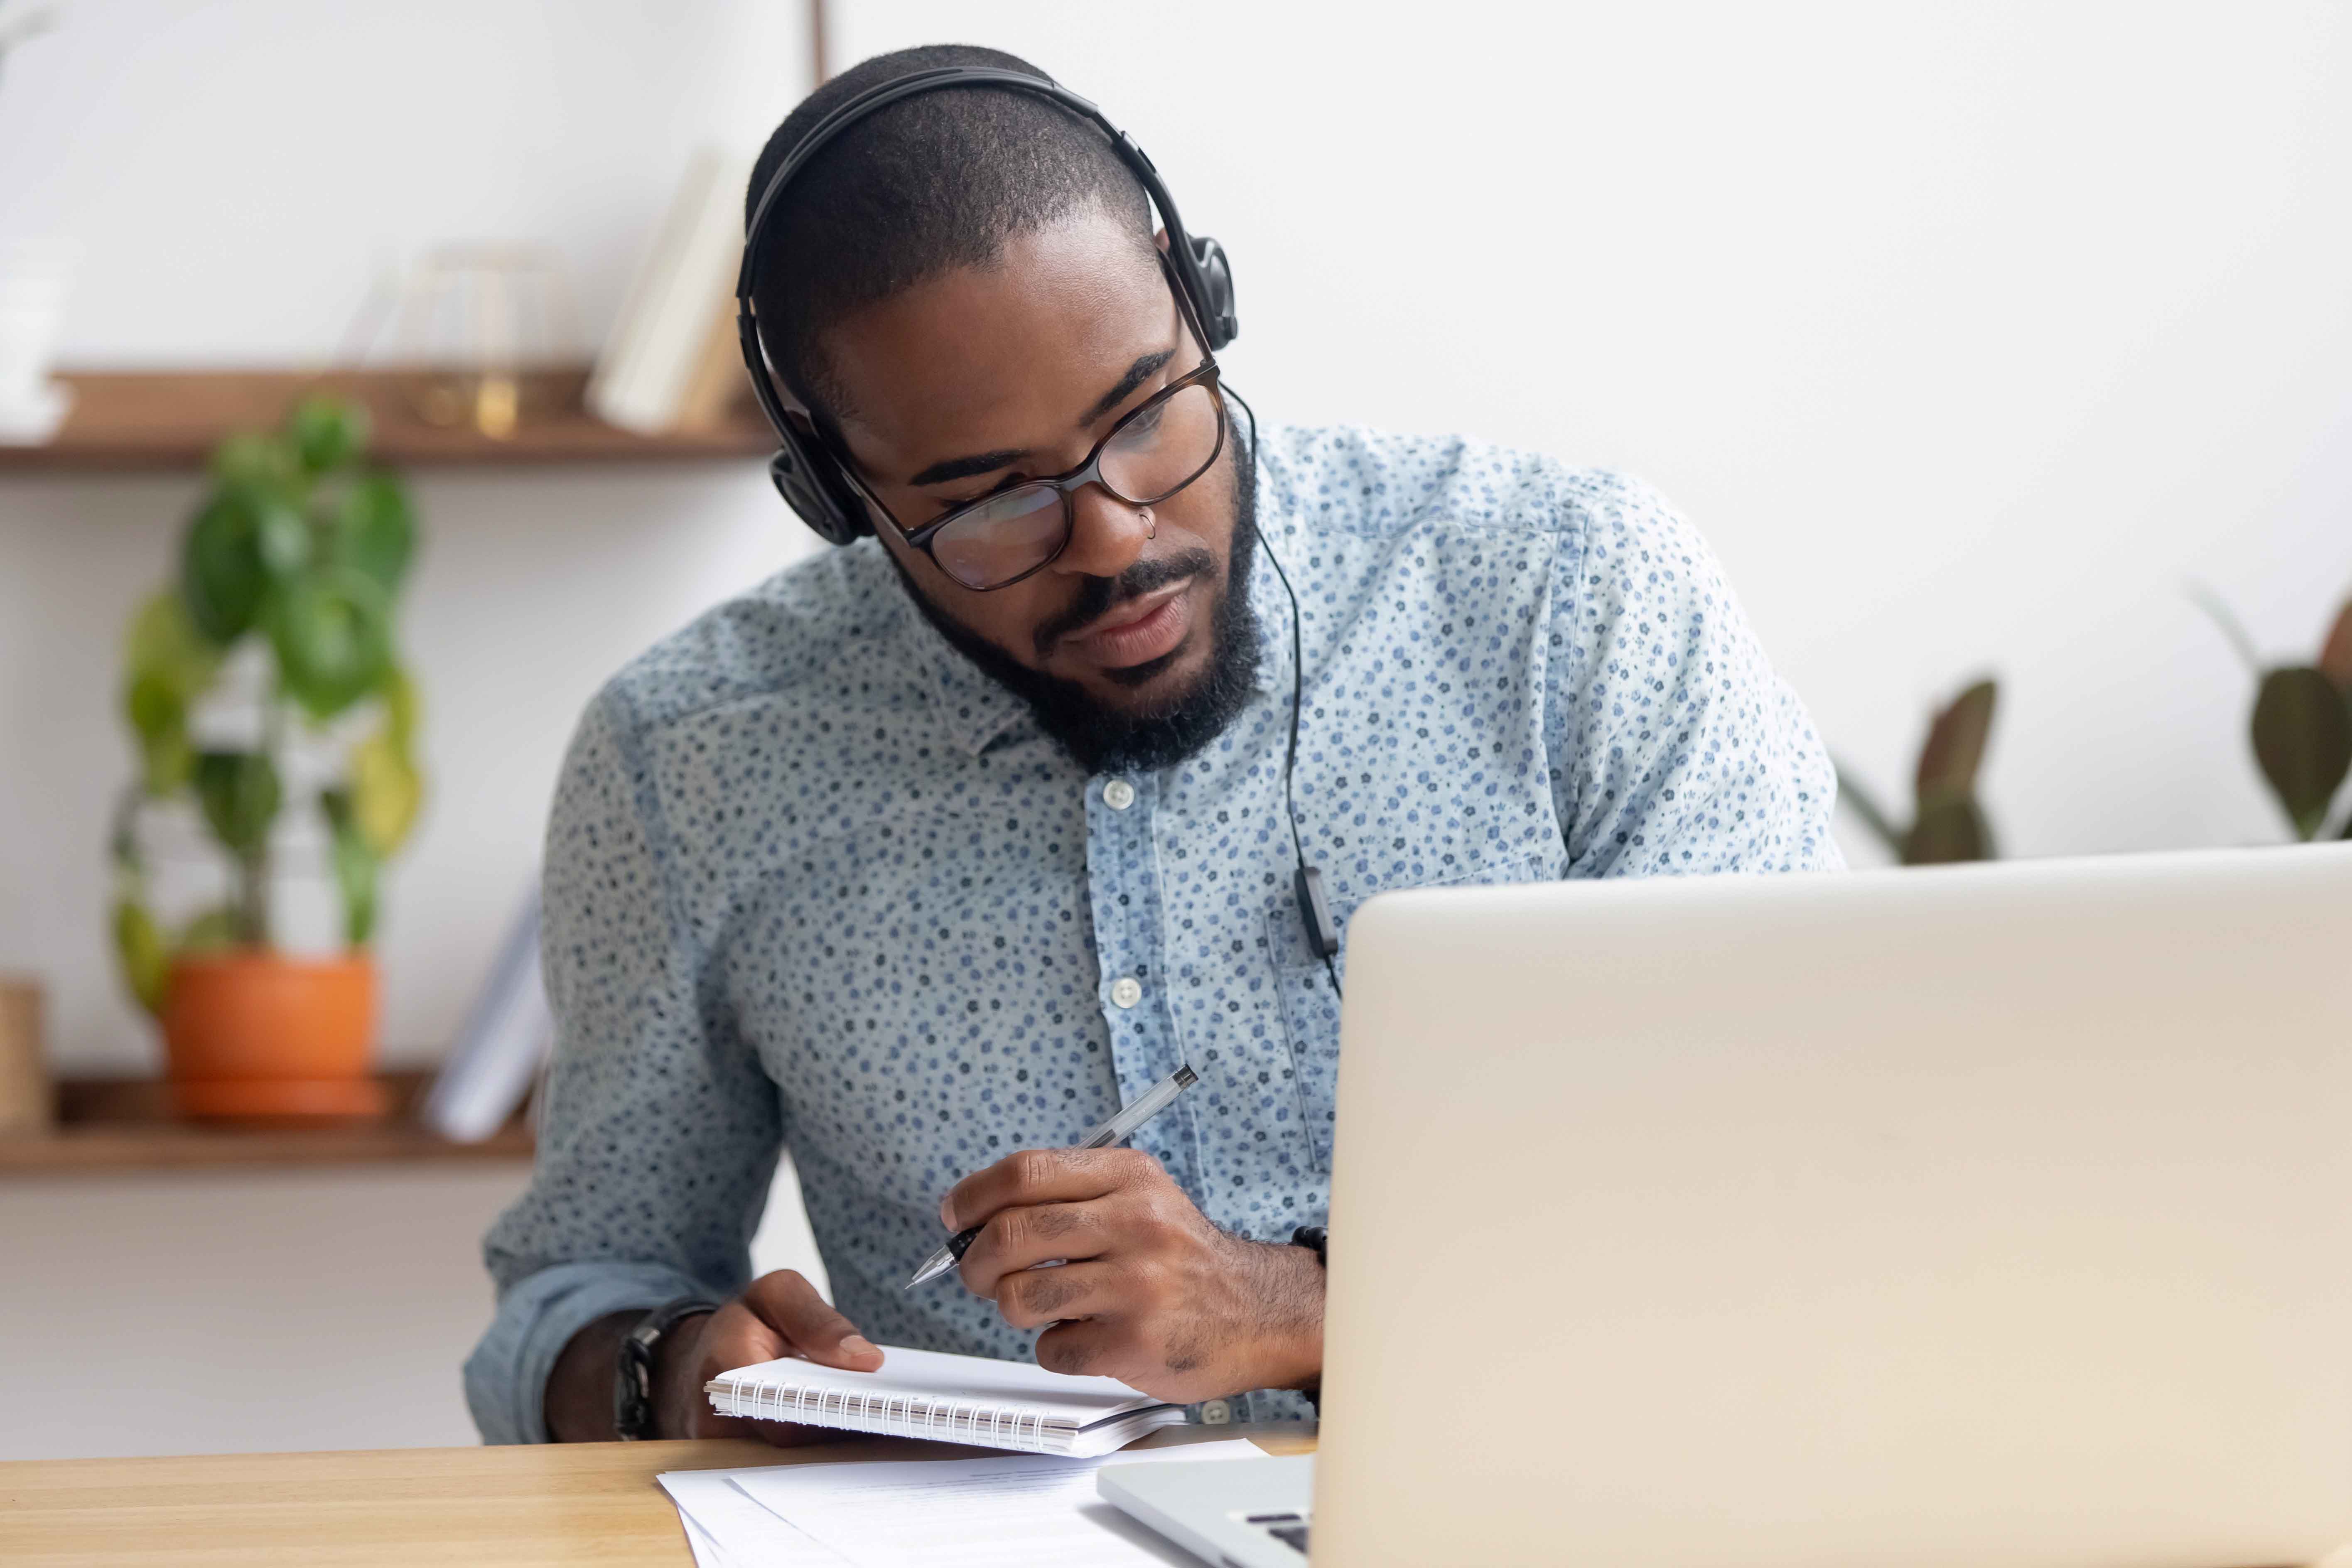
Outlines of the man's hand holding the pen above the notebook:
[[1150,1154],[1021,1150],[957,1182],[938,1218],[950,1234],[981,1227],[964,1284],[1014,1328],[1044,1328],[1037,1366],[1169,1403],[1322,1373],[1315,1255],[1221,1232]]

